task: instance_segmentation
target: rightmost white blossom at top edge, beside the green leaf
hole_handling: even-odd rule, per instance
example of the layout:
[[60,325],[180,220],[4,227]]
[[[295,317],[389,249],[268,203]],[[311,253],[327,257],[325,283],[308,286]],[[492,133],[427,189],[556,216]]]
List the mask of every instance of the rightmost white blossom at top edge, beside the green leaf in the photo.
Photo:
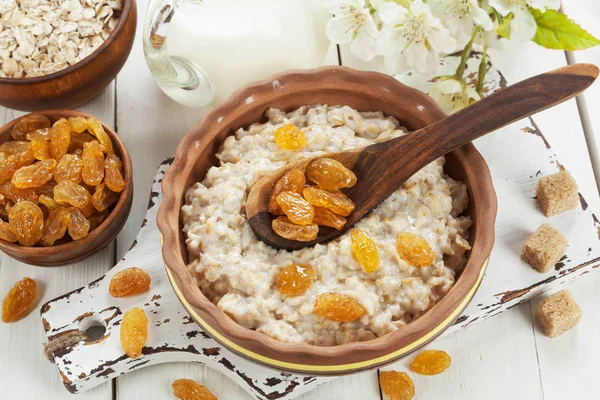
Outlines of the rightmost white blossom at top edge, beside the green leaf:
[[504,17],[513,13],[513,19],[510,22],[510,38],[520,41],[531,40],[535,36],[537,28],[528,7],[540,10],[546,8],[557,10],[560,7],[560,0],[489,0],[489,3]]

